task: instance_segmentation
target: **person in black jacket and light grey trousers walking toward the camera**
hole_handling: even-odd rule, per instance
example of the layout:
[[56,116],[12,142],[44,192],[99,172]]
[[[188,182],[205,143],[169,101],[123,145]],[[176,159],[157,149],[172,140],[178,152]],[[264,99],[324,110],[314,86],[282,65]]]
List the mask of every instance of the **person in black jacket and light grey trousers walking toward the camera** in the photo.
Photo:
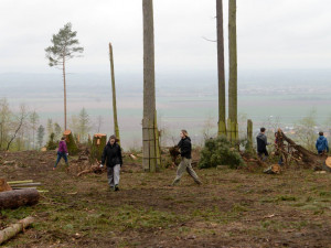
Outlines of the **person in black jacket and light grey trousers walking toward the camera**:
[[100,164],[103,168],[106,162],[108,184],[114,191],[119,191],[119,171],[122,165],[121,150],[117,141],[116,136],[110,136],[104,149]]

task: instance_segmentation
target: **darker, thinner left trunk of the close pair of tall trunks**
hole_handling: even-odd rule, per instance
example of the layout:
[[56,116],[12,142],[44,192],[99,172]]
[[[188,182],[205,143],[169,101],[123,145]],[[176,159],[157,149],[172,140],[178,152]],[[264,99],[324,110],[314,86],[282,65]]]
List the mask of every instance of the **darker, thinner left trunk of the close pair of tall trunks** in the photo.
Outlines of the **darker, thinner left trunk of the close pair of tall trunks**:
[[216,0],[218,65],[218,136],[226,136],[223,0]]

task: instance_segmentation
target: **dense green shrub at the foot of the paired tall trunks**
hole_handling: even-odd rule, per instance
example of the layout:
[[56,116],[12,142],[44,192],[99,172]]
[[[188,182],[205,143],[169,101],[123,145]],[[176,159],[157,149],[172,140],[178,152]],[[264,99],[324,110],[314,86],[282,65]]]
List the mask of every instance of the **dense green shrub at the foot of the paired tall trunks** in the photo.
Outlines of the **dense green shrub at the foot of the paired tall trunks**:
[[232,147],[226,137],[206,140],[201,151],[199,168],[215,168],[217,165],[229,165],[232,169],[245,165],[242,155]]

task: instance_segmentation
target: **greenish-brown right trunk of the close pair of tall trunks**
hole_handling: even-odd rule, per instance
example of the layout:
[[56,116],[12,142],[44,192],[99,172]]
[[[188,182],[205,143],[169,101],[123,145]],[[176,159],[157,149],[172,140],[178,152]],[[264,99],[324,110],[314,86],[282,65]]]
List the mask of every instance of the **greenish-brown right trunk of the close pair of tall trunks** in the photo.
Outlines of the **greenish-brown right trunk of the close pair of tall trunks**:
[[232,142],[238,139],[237,121],[237,34],[236,34],[236,0],[228,1],[228,138]]

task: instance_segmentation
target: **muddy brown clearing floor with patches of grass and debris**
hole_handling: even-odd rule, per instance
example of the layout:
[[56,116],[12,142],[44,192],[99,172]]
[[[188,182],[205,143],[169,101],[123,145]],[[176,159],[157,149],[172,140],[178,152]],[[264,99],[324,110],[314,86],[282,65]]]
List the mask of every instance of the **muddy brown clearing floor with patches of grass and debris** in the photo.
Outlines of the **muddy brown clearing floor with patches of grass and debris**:
[[[169,186],[175,169],[143,173],[126,158],[120,191],[106,174],[77,177],[54,152],[0,153],[0,177],[41,182],[35,206],[1,211],[0,228],[29,215],[36,223],[4,247],[331,247],[331,174],[291,168],[280,175],[196,170]],[[76,159],[76,158],[71,158]]]

